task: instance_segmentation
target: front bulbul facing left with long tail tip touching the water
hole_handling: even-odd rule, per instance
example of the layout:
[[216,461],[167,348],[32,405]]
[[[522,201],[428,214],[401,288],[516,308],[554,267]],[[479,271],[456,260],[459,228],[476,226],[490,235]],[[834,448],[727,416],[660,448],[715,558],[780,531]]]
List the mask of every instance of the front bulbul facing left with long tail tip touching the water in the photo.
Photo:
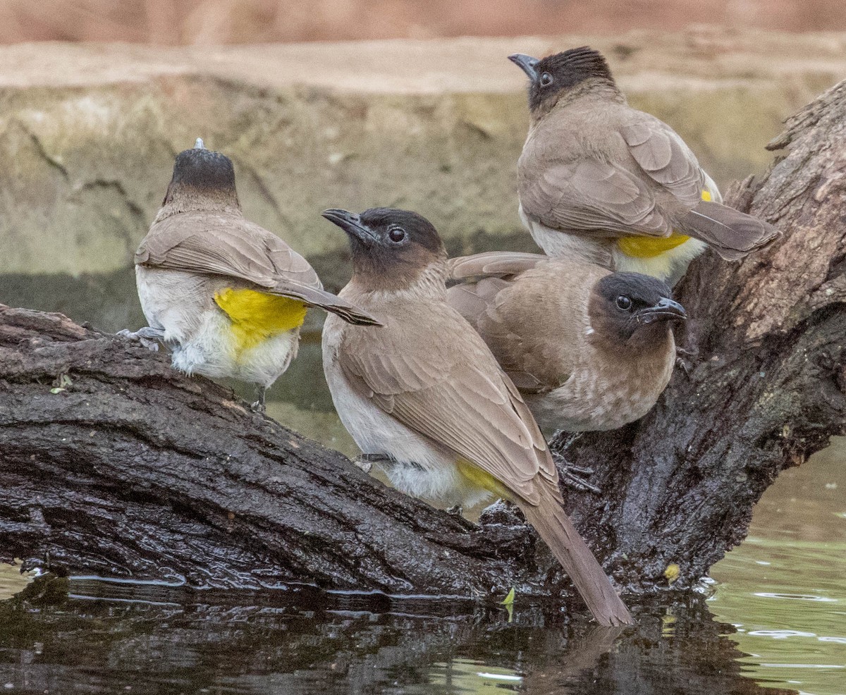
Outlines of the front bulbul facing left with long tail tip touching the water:
[[382,322],[330,316],[323,369],[344,426],[409,495],[516,503],[597,621],[630,622],[602,567],[564,513],[558,473],[529,408],[497,360],[447,302],[446,252],[414,212],[323,216],[349,235],[354,274],[340,295]]

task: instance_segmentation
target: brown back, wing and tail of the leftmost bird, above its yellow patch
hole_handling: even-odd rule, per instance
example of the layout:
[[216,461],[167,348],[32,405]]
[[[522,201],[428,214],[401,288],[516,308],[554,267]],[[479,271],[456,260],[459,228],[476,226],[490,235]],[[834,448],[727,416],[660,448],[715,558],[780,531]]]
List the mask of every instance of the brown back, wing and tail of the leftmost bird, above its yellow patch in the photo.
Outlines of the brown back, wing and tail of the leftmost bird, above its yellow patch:
[[324,290],[314,268],[281,238],[240,216],[193,212],[155,222],[135,252],[135,263],[233,277],[261,292],[299,299],[352,323],[379,323]]

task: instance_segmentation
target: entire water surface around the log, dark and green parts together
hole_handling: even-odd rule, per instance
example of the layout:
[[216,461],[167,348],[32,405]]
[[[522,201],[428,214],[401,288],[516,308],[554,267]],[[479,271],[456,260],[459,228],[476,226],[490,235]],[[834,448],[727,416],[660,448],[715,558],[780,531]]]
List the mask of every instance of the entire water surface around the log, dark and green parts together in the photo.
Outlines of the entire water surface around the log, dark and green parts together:
[[[268,413],[353,455],[319,353],[314,337],[304,341]],[[846,440],[783,473],[757,506],[749,538],[712,576],[700,596],[640,606],[638,626],[618,633],[519,597],[509,622],[505,610],[473,604],[306,587],[27,585],[0,566],[0,688],[846,695]]]

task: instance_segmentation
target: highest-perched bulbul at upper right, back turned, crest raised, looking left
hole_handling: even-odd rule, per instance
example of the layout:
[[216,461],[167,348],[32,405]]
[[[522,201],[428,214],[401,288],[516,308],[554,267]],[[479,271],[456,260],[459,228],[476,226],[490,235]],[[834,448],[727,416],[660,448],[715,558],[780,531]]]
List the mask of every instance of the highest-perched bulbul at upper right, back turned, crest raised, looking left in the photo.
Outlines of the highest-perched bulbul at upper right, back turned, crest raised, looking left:
[[706,244],[738,260],[777,236],[722,205],[684,140],[629,107],[599,52],[509,59],[529,77],[519,214],[547,255],[673,283]]

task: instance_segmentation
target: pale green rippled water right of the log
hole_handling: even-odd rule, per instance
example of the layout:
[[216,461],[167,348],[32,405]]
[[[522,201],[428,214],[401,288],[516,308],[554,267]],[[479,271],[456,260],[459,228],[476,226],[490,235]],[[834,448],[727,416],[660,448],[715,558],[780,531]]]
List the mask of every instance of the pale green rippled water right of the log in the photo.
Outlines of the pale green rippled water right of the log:
[[761,683],[846,693],[846,441],[782,473],[755,507],[750,536],[714,566],[711,610],[732,622]]

